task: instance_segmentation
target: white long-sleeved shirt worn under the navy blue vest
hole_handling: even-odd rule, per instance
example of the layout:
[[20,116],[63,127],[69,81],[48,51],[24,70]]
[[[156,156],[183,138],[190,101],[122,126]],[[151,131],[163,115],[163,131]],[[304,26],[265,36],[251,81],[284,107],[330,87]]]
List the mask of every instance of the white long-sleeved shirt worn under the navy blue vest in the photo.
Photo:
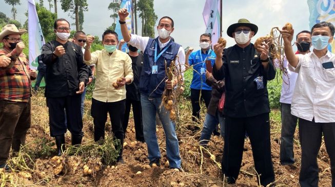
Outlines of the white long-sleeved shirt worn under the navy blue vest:
[[[137,49],[140,49],[141,51],[144,52],[145,48],[147,47],[147,44],[149,42],[149,37],[143,37],[143,36],[139,36],[139,35],[135,35],[135,34],[131,34],[131,38],[128,41],[128,43],[134,47],[136,47]],[[160,45],[160,48],[163,49],[168,43],[169,41],[162,43],[161,40],[158,40],[158,43]],[[178,57],[179,60],[176,59],[174,61],[174,64],[176,67],[181,67],[181,72],[182,72],[182,76],[184,79],[184,71],[185,71],[185,51],[183,49],[182,46],[180,46],[179,50],[178,50]]]

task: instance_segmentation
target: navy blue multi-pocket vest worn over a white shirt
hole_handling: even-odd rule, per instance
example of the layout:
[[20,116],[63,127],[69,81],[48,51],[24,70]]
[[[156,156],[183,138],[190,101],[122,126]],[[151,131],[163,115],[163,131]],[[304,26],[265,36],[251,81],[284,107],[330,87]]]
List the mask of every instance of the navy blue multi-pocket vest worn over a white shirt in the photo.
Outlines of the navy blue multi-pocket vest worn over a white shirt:
[[[165,75],[165,61],[167,63],[166,66],[170,66],[171,61],[174,60],[181,46],[170,40],[165,48],[160,49],[158,40],[159,38],[157,37],[155,39],[150,38],[148,41],[144,50],[144,62],[140,78],[140,91],[150,96],[150,98],[162,97],[162,93],[165,89],[165,80],[167,79],[167,75]],[[155,49],[156,46],[157,49]],[[166,51],[154,62],[155,50],[157,50],[156,55],[158,55],[165,49]],[[157,65],[157,74],[152,74],[153,65]]]

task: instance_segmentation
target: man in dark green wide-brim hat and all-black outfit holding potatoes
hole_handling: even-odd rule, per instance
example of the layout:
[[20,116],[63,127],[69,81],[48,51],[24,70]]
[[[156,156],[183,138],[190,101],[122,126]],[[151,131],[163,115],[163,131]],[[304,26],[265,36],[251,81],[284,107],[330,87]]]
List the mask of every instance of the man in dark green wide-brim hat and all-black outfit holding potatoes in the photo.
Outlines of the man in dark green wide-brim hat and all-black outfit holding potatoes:
[[227,29],[228,36],[236,44],[224,49],[215,44],[216,54],[213,76],[225,79],[226,116],[225,145],[222,173],[228,183],[235,183],[241,168],[245,134],[250,138],[254,165],[260,175],[260,183],[267,186],[274,181],[271,160],[269,99],[267,81],[275,77],[275,69],[269,58],[266,43],[255,46],[250,42],[258,27],[247,19],[239,19]]

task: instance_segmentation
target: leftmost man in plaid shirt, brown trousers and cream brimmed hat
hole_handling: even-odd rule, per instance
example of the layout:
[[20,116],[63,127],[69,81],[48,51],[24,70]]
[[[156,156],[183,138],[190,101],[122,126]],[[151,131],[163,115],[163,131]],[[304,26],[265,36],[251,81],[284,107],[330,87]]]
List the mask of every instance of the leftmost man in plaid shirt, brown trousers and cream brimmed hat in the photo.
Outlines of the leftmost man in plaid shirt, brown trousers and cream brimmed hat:
[[10,24],[0,33],[4,43],[0,50],[0,168],[5,170],[9,170],[6,161],[10,147],[18,152],[25,144],[31,121],[31,80],[36,72],[22,53],[25,44],[21,35],[26,32]]

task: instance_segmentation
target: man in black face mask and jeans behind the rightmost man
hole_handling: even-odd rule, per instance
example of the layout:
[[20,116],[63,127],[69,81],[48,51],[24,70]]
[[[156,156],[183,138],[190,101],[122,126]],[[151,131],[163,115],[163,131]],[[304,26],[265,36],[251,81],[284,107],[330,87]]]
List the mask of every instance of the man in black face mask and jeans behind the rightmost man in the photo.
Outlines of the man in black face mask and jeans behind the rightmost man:
[[[310,31],[301,31],[297,34],[294,43],[297,45],[298,51],[295,54],[305,55],[309,53],[311,45]],[[293,96],[293,90],[295,81],[297,80],[298,74],[291,72],[288,69],[288,62],[285,59],[283,67],[287,74],[283,74],[282,92],[280,96],[281,103],[281,118],[282,118],[282,132],[280,138],[280,163],[282,165],[293,165],[294,153],[293,153],[293,137],[295,127],[297,126],[298,117],[291,114],[291,102]]]

